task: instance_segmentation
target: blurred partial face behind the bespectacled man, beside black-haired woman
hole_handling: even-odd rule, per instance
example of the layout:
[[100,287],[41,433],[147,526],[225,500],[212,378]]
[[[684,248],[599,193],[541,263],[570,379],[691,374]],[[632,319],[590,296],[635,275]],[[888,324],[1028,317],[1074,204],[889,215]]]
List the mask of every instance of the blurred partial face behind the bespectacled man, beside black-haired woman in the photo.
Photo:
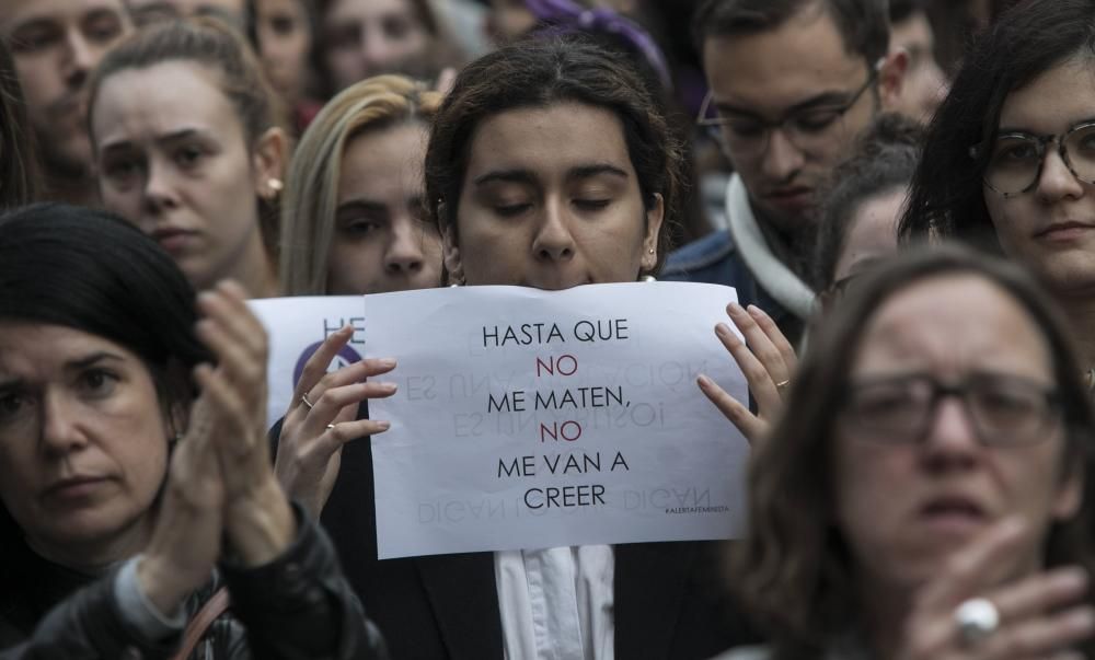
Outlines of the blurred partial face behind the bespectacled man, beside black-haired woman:
[[890,50],[909,54],[901,94],[894,109],[926,124],[950,89],[946,73],[935,61],[935,33],[924,12],[915,12],[890,27]]

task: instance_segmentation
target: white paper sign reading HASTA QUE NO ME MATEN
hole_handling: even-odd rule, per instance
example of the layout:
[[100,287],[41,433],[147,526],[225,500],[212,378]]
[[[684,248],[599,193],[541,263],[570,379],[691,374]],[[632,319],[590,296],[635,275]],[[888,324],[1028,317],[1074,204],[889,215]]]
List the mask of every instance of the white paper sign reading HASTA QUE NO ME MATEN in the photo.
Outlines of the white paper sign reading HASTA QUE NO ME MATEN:
[[[739,401],[719,344],[733,289],[633,282],[367,296],[381,558],[728,539],[748,444],[703,396]],[[362,502],[362,506],[368,503]]]

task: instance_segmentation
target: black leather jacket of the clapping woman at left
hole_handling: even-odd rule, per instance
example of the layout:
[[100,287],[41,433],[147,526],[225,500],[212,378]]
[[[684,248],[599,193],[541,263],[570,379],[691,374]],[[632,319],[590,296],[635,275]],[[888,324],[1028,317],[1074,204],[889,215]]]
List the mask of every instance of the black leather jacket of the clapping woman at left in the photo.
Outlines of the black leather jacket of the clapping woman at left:
[[[330,540],[295,507],[298,536],[273,563],[228,564],[186,603],[193,616],[224,584],[231,609],[208,629],[194,660],[373,660],[387,658],[376,627],[339,570]],[[24,548],[25,571],[0,593],[0,660],[170,658],[181,635],[145,639],[123,617],[115,572],[101,579]]]

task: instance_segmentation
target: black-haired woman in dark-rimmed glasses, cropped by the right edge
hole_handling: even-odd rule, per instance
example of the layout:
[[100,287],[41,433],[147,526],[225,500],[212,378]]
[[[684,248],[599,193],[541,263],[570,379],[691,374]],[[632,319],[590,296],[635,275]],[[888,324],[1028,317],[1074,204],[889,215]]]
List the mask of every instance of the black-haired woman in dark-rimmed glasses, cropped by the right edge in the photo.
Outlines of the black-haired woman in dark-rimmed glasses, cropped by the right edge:
[[967,56],[929,131],[902,232],[1029,268],[1076,331],[1075,369],[1091,374],[1093,182],[1095,0],[1025,2]]

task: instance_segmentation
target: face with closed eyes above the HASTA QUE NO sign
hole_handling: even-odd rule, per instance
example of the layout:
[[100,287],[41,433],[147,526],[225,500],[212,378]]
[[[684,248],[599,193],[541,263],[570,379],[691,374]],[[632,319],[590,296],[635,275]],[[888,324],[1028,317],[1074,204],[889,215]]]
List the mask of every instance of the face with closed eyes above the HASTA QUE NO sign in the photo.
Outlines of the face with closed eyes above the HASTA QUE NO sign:
[[634,281],[657,263],[662,208],[646,210],[623,127],[578,103],[512,109],[471,140],[446,265],[469,285],[567,289]]

